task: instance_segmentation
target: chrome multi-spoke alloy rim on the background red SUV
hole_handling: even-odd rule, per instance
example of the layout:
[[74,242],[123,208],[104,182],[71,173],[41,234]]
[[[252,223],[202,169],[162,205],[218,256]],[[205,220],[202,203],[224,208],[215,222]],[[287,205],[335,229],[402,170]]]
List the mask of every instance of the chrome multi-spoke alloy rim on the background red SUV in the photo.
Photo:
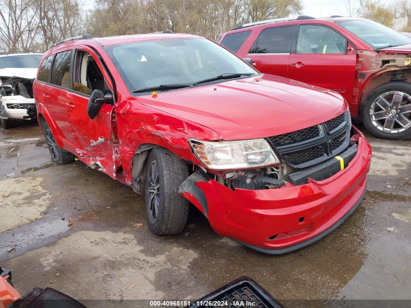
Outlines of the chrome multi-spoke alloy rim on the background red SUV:
[[389,91],[375,98],[370,108],[372,124],[381,131],[399,133],[411,127],[411,96]]

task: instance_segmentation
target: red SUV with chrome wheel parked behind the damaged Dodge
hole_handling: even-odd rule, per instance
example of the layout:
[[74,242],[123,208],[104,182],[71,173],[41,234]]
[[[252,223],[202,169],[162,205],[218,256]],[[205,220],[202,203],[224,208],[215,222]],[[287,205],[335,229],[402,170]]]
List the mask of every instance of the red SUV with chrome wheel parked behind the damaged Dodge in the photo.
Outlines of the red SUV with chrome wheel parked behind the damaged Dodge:
[[339,92],[375,136],[411,136],[411,38],[362,18],[273,19],[220,43],[260,72]]

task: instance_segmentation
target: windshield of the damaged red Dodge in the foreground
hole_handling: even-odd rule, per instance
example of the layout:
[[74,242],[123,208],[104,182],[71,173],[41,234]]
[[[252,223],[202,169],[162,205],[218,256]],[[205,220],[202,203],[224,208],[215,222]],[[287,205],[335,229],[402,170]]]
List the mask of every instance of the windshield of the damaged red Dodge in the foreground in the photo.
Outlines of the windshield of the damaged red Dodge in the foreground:
[[[130,92],[150,87],[164,91],[164,87],[160,87],[163,85],[173,85],[176,89],[179,84],[194,84],[223,74],[258,73],[205,38],[157,39],[105,49]],[[224,75],[225,79],[227,76]]]

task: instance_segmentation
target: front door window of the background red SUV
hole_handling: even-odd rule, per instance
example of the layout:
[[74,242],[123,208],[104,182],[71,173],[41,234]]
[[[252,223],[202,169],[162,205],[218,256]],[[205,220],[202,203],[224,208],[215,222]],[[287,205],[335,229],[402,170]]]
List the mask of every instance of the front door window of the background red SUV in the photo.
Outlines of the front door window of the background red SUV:
[[297,54],[345,54],[347,40],[319,25],[302,25],[298,31]]

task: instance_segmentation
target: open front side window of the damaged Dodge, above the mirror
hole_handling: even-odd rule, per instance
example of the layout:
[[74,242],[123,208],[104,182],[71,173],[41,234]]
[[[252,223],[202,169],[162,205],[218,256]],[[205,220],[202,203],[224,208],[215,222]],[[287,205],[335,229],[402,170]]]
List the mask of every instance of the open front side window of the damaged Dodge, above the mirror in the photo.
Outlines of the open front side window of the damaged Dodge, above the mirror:
[[94,58],[85,51],[77,51],[73,68],[73,90],[84,94],[91,94],[93,90],[110,93],[110,88],[104,80]]

